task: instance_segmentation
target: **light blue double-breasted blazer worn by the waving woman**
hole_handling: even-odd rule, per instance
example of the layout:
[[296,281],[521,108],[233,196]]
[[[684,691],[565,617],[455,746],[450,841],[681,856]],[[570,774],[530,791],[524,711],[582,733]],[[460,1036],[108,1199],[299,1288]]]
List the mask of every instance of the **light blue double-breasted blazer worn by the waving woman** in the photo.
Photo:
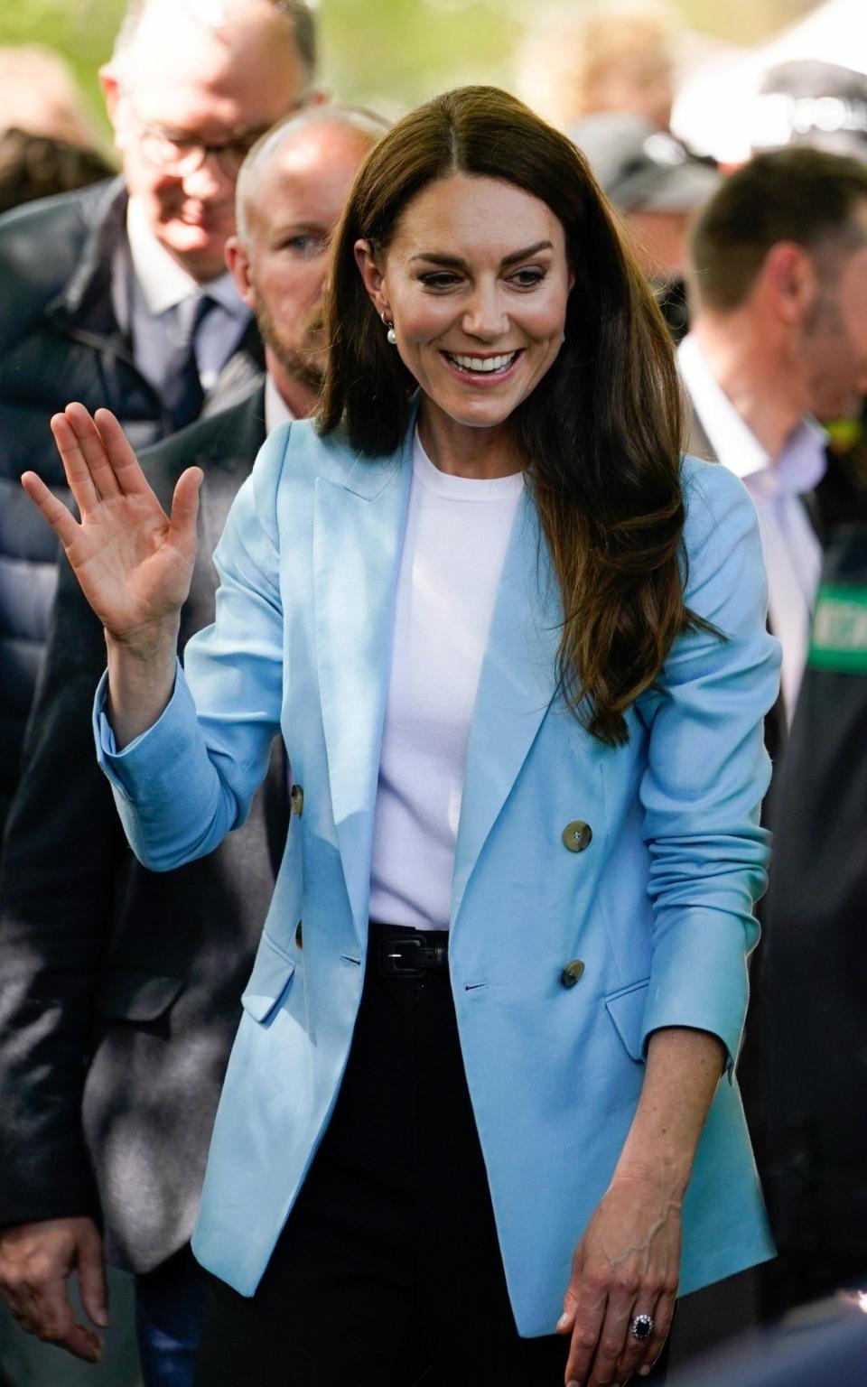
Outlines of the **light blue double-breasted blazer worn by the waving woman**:
[[[215,555],[216,624],[187,645],[186,680],[160,721],[112,755],[97,695],[100,756],[150,868],[209,853],[244,820],[279,732],[304,786],[243,996],[193,1244],[244,1295],[327,1125],[362,992],[409,447],[369,460],[308,423],[279,429]],[[692,458],[683,476],[687,601],[726,638],[681,637],[663,687],[628,714],[628,745],[595,741],[555,695],[560,605],[524,492],[473,712],[449,968],[524,1336],[553,1330],[659,1026],[710,1031],[730,1057],[687,1194],[681,1291],[773,1255],[731,1061],[766,879],[762,717],[780,655],[746,491]],[[592,829],[583,852],[563,842],[576,820]],[[573,960],[584,972],[565,986]],[[386,1076],[387,1056],[383,1067]]]

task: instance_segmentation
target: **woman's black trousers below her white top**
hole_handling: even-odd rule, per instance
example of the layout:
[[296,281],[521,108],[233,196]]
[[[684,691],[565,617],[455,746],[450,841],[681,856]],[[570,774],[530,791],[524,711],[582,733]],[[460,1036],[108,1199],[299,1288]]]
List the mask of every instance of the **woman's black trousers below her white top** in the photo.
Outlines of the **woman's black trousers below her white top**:
[[567,1341],[515,1329],[448,974],[380,976],[411,931],[370,931],[332,1122],[255,1295],[208,1277],[196,1387],[562,1387]]

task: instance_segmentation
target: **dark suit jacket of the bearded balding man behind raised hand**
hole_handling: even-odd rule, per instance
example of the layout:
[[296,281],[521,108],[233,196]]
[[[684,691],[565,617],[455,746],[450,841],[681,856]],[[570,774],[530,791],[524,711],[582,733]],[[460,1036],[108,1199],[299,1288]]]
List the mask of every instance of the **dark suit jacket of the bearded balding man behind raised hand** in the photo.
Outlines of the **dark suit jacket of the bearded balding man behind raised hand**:
[[[183,638],[212,620],[211,552],[264,438],[259,388],[144,458],[164,503],[184,467],[205,472]],[[101,1211],[111,1258],[141,1272],[193,1227],[286,777],[275,753],[247,824],[211,857],[141,868],[93,757],[101,627],[62,569],[0,875],[0,1222]]]

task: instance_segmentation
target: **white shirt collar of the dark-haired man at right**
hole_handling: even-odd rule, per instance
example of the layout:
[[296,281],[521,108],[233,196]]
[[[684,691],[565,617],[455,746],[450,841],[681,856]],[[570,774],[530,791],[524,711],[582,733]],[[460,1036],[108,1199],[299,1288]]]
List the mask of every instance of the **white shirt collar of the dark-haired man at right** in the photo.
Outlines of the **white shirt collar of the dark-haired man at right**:
[[719,384],[692,333],[677,348],[677,358],[717,460],[742,481],[749,480],[750,491],[773,501],[780,495],[803,495],[821,481],[828,436],[813,417],[800,419],[774,462]]

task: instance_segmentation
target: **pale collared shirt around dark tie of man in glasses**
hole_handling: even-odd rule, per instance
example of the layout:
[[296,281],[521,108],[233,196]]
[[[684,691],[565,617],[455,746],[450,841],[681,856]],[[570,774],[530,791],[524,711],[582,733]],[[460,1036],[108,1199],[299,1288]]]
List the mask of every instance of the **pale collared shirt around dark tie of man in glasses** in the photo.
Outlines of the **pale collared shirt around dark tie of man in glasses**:
[[162,388],[165,363],[175,350],[172,309],[204,290],[216,307],[196,333],[196,363],[203,390],[211,390],[251,318],[232,275],[226,270],[207,284],[197,283],[157,240],[135,197],[126,209],[126,241],[129,259],[118,255],[112,268],[112,301],[118,323],[130,333],[141,374],[157,391]]

